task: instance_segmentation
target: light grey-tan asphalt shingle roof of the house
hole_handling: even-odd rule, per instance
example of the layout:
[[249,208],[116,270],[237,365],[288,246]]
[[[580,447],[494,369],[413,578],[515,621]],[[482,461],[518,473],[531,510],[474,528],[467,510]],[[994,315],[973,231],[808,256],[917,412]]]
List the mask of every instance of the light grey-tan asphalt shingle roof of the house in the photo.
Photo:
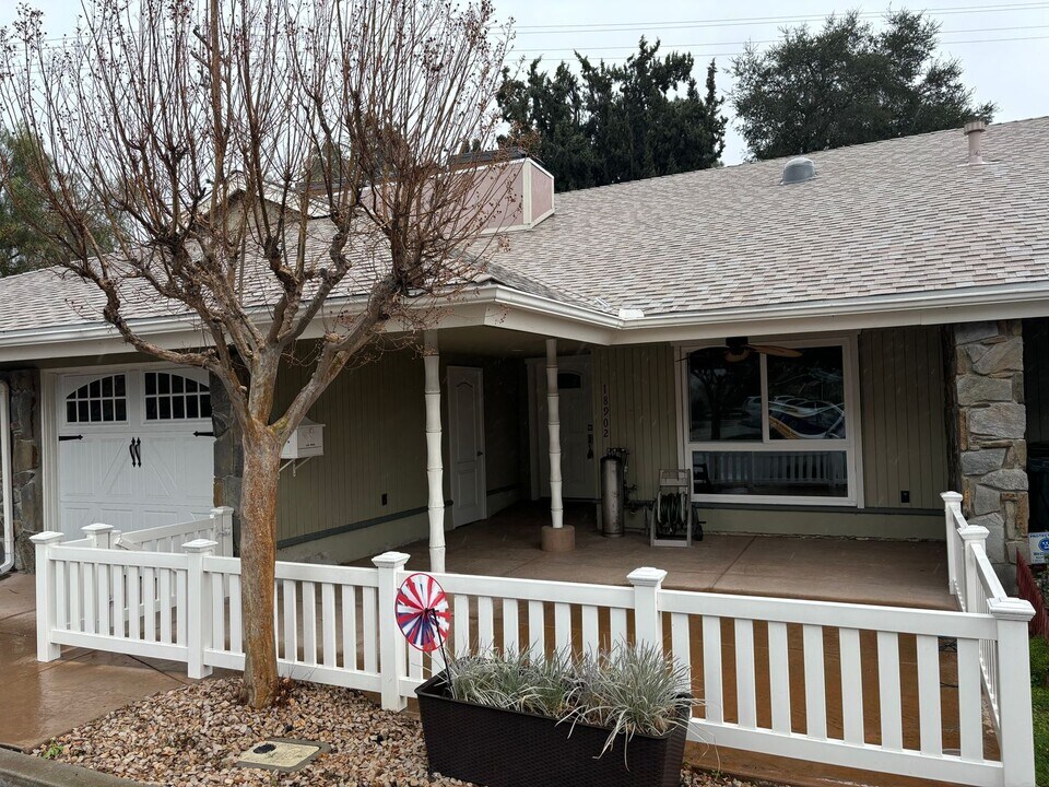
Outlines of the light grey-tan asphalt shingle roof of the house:
[[[991,126],[983,152],[967,166],[952,130],[813,153],[816,177],[791,186],[776,160],[557,195],[491,244],[485,279],[646,316],[1049,282],[1049,117]],[[102,303],[52,270],[0,279],[0,336],[98,324]],[[170,314],[142,293],[128,316]]]

